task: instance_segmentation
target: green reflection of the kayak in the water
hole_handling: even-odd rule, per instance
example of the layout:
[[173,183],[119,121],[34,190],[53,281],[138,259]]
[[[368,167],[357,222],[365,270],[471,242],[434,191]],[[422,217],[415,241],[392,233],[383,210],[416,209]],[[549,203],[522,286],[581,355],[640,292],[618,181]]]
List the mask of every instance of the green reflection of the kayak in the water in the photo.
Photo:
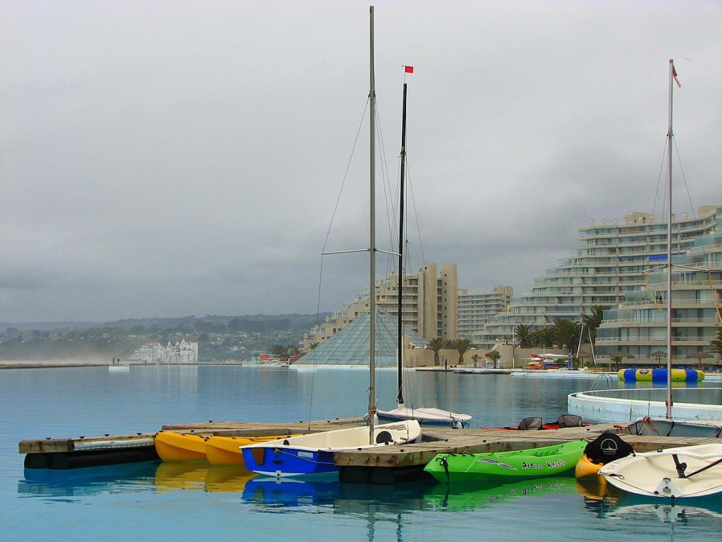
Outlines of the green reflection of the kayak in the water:
[[510,499],[576,493],[574,478],[552,476],[511,483],[469,483],[452,487],[436,484],[425,499],[440,510],[458,511],[491,507]]

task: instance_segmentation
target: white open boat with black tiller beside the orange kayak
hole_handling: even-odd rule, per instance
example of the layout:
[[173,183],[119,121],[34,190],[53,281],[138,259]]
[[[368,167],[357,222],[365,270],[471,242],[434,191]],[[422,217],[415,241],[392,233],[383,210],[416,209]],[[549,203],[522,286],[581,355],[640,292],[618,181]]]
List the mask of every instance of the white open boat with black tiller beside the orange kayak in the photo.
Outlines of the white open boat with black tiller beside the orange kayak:
[[682,499],[722,491],[722,444],[697,444],[622,457],[599,470],[619,489]]

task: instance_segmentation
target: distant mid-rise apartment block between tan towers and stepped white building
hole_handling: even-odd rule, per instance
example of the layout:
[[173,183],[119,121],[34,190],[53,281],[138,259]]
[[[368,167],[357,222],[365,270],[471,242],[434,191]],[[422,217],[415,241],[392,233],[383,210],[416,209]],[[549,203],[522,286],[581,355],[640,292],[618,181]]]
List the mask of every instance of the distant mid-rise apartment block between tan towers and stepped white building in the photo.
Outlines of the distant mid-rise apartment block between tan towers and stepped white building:
[[458,291],[458,336],[473,343],[482,341],[484,325],[506,311],[514,296],[511,286],[495,286],[490,292]]

